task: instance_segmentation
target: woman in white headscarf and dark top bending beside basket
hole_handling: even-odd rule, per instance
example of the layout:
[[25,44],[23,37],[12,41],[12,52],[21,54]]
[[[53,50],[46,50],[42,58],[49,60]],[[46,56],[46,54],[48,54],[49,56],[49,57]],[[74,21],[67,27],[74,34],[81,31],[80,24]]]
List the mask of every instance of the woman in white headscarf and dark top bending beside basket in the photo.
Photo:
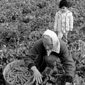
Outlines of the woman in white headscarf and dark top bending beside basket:
[[[63,68],[65,70],[65,76],[64,76],[64,79],[66,80],[65,85],[70,85],[73,82],[75,63],[72,59],[72,56],[69,55],[65,42],[59,40],[54,31],[47,29],[43,33],[42,38],[36,41],[34,46],[30,49],[28,58],[23,59],[24,60],[23,62],[25,63],[24,66],[28,67],[29,71],[30,70],[32,71],[33,82],[36,82],[36,85],[42,83],[41,73],[45,70],[46,66],[55,65],[57,57],[60,58],[61,63],[63,64]],[[14,65],[9,65],[9,66],[10,68],[14,67]],[[17,67],[17,69],[18,68],[19,67]],[[5,69],[3,74],[6,75],[7,72]],[[23,70],[23,72],[25,71]]]

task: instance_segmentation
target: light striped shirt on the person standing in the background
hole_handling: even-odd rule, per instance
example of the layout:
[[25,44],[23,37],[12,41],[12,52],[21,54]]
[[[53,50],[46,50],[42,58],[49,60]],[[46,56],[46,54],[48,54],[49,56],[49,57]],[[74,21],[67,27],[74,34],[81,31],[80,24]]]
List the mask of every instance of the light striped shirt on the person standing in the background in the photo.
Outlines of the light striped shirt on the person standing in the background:
[[55,15],[54,31],[67,32],[73,29],[73,14],[67,10],[65,13],[58,11]]

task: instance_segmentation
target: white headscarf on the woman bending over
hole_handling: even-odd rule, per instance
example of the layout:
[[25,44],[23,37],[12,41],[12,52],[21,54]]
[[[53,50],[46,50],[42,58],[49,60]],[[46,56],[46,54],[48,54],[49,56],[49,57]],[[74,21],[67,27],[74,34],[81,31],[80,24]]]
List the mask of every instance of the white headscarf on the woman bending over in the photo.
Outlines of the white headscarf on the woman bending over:
[[49,30],[47,29],[44,33],[43,33],[43,36],[44,35],[47,35],[49,36],[51,39],[52,39],[52,42],[53,42],[53,48],[51,51],[49,51],[49,54],[54,51],[56,53],[59,53],[60,52],[60,41],[56,35],[56,33],[52,30]]

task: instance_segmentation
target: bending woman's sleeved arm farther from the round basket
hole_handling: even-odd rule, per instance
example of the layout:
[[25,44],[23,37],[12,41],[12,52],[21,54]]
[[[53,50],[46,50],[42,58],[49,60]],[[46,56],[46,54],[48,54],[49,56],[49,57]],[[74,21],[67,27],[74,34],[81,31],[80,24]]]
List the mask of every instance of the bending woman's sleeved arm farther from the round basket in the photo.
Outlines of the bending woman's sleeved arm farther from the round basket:
[[75,62],[73,61],[73,58],[70,55],[66,44],[63,44],[61,49],[61,61],[65,70],[65,78],[67,82],[72,82],[75,73]]

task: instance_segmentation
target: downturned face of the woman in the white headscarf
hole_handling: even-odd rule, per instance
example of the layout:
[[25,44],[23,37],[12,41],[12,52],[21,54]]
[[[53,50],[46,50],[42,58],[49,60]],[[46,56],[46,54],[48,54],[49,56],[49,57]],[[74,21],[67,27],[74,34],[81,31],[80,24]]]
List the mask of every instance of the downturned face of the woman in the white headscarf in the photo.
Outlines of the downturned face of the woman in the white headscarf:
[[43,46],[47,51],[51,50],[53,48],[53,42],[52,39],[49,36],[43,37]]

